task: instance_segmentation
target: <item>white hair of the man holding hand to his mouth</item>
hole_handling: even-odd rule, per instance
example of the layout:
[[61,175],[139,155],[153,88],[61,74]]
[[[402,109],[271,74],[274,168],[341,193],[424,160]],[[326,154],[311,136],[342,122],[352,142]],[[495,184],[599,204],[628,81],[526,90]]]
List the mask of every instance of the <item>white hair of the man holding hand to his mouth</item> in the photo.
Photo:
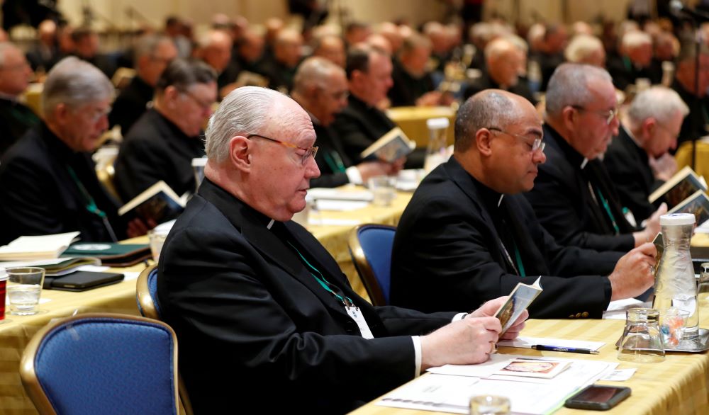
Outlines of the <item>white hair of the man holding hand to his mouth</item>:
[[640,124],[647,118],[655,118],[660,123],[669,123],[679,111],[683,117],[689,113],[679,94],[666,86],[653,86],[646,89],[632,100],[627,116],[632,123]]

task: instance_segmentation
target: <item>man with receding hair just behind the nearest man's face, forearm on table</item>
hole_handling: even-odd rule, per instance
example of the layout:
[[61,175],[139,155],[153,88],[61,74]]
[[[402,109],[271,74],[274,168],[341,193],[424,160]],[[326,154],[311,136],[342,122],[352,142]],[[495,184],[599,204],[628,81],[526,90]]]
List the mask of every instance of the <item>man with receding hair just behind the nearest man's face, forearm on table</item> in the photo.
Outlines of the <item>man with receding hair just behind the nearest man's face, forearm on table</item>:
[[347,106],[345,69],[323,57],[309,57],[298,66],[291,96],[311,116],[317,136],[315,161],[320,177],[311,180],[312,187],[336,187],[347,183],[362,184],[372,176],[396,174],[403,160],[387,163],[381,160],[352,164],[342,149],[342,142],[330,125],[335,115]]

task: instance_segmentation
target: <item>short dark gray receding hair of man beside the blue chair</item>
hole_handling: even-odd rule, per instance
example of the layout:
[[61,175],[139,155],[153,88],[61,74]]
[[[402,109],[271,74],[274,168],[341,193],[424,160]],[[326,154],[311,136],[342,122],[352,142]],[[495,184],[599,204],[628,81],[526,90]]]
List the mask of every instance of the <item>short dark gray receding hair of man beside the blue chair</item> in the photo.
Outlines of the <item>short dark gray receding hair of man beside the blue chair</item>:
[[454,149],[467,150],[481,128],[505,129],[518,115],[514,101],[501,91],[487,89],[468,98],[455,117]]

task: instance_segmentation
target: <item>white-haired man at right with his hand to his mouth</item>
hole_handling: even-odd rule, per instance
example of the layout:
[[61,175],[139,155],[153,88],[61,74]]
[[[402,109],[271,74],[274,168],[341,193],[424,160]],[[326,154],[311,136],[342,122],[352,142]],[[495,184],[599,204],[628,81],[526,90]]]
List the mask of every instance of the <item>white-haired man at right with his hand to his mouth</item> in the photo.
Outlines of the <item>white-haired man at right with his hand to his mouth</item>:
[[653,86],[638,94],[621,116],[620,134],[608,146],[603,164],[618,188],[620,202],[638,222],[657,208],[647,197],[677,171],[670,149],[677,137],[688,106],[679,94],[664,86]]

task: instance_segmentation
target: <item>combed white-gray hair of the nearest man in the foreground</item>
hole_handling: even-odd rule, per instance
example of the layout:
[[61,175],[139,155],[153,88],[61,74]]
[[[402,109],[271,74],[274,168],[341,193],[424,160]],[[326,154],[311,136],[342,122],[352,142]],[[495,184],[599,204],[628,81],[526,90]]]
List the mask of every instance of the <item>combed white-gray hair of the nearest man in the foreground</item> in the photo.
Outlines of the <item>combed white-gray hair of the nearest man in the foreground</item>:
[[204,149],[217,164],[229,156],[229,140],[236,135],[255,134],[269,118],[269,110],[284,94],[259,86],[242,86],[220,103],[207,126]]

